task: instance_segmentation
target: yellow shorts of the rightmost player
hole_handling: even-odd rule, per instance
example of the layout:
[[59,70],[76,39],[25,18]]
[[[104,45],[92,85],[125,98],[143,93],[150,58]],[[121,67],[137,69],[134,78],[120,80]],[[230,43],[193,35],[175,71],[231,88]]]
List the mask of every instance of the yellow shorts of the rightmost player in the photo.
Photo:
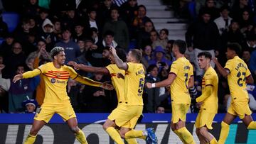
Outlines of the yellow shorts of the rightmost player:
[[252,111],[249,108],[248,101],[233,101],[228,108],[228,113],[239,116],[242,119],[245,118],[245,114],[251,115]]

